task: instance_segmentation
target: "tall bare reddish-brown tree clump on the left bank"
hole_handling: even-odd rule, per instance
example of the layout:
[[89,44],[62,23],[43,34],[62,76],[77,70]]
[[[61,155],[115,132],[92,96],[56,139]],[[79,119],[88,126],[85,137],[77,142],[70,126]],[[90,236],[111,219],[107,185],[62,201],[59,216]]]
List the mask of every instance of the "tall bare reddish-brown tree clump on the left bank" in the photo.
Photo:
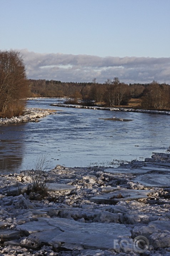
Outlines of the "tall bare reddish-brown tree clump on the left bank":
[[19,101],[28,92],[25,65],[20,53],[0,51],[0,111],[9,114],[14,108],[21,111],[24,106],[21,107]]

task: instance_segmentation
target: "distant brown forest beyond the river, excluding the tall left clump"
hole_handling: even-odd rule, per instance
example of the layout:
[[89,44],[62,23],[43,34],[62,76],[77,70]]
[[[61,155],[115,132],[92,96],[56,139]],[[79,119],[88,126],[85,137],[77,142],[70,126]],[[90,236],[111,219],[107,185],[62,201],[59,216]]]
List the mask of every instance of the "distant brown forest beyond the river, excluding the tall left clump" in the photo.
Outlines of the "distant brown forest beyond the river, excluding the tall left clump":
[[29,79],[29,88],[31,97],[69,97],[72,100],[68,103],[74,104],[82,100],[87,105],[100,103],[112,107],[132,105],[146,109],[170,109],[170,85],[156,81],[125,84],[115,77],[101,84],[96,82],[96,78],[88,83]]

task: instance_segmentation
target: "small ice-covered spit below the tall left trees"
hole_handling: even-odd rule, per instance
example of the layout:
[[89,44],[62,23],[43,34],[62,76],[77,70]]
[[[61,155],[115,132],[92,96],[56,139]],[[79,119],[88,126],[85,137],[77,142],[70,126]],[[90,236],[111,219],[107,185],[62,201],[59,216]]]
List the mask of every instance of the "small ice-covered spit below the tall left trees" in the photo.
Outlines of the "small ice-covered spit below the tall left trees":
[[50,115],[53,111],[50,109],[27,108],[23,116],[12,116],[11,118],[0,118],[2,124],[16,124],[23,122],[38,122],[38,119]]

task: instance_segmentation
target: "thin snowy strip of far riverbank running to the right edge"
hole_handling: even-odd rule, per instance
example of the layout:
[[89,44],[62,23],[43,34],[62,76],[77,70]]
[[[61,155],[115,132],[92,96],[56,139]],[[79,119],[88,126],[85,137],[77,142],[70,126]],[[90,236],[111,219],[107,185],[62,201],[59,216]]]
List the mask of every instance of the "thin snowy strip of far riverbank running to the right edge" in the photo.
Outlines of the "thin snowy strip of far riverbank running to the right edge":
[[135,108],[123,108],[123,107],[88,107],[82,105],[71,105],[71,104],[50,104],[50,106],[56,107],[73,107],[73,108],[88,108],[94,110],[110,110],[110,111],[123,111],[123,112],[136,112],[136,113],[150,113],[150,114],[160,114],[160,115],[170,115],[170,111],[161,110],[146,110],[146,109],[135,109]]

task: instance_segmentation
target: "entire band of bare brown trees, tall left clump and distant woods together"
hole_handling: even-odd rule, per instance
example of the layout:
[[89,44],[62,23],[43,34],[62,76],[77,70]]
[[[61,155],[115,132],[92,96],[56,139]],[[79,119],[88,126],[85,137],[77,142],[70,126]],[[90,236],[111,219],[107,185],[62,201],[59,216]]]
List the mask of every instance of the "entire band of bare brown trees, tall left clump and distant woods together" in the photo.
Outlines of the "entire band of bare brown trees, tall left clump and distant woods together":
[[118,77],[98,83],[61,82],[27,79],[20,53],[0,51],[0,117],[19,116],[24,111],[25,97],[71,97],[86,104],[128,106],[130,99],[139,99],[146,109],[170,109],[170,85],[152,81],[147,84],[126,84]]

